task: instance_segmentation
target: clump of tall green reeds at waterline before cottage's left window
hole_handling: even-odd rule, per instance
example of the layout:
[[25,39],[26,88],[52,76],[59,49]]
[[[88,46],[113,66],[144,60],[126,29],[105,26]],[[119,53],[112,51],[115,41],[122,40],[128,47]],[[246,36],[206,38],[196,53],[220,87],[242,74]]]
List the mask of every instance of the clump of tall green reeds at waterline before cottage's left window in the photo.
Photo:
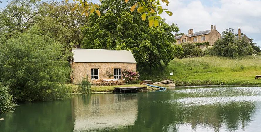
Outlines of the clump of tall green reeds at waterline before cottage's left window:
[[84,94],[91,92],[91,81],[88,77],[83,77],[82,81],[78,82],[78,91],[81,91]]

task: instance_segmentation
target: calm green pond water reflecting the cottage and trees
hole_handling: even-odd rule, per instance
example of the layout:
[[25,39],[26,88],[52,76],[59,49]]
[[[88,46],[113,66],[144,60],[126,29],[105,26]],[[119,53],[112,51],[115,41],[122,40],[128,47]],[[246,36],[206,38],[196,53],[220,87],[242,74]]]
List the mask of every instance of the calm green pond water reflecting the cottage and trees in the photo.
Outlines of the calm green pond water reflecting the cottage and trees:
[[261,87],[91,94],[21,104],[1,132],[261,131]]

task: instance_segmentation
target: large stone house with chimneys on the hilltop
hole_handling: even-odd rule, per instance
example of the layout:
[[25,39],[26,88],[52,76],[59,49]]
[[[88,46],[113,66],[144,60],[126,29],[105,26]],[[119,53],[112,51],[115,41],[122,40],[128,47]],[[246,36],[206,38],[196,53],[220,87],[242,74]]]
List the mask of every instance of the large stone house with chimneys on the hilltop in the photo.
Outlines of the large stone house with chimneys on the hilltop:
[[221,34],[216,30],[216,26],[213,25],[211,25],[211,30],[199,31],[195,33],[193,32],[193,29],[189,29],[188,31],[188,34],[179,36],[177,36],[177,34],[175,35],[177,44],[190,41],[195,43],[209,42],[209,45],[213,45],[216,40],[221,38]]

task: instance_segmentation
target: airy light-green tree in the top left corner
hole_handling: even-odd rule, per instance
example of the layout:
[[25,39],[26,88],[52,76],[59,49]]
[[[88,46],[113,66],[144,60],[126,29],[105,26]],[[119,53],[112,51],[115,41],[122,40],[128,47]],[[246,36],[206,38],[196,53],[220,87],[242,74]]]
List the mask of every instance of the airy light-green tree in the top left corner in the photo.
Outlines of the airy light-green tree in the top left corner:
[[11,0],[0,12],[0,29],[4,30],[6,39],[19,33],[24,33],[35,23],[39,14],[40,0]]

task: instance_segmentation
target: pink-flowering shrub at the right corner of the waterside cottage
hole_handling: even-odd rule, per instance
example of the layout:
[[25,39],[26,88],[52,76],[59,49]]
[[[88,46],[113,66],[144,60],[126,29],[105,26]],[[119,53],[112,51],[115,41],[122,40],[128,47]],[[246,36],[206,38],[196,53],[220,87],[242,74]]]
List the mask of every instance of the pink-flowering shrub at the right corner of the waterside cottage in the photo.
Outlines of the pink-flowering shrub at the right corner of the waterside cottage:
[[125,79],[126,83],[137,82],[140,77],[139,72],[126,69],[122,70],[121,74],[123,76],[123,79]]

